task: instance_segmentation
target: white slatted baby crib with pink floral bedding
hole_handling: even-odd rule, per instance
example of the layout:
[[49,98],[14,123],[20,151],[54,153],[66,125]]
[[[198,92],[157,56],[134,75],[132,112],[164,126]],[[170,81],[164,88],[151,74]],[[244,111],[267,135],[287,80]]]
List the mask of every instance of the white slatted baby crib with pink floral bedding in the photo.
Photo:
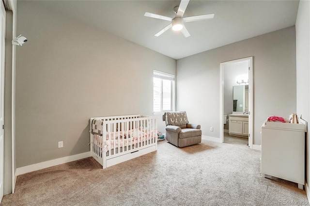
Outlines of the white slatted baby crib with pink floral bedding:
[[156,118],[140,114],[90,119],[91,156],[103,168],[157,150]]

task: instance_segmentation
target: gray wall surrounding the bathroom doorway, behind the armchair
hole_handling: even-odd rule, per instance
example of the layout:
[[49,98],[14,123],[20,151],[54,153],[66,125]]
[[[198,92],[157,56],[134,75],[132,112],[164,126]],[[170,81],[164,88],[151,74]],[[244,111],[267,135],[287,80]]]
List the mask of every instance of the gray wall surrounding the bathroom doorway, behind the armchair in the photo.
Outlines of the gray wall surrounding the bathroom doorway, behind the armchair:
[[[202,135],[219,138],[219,64],[253,56],[254,142],[269,115],[296,111],[295,27],[270,32],[177,60],[177,109],[201,124]],[[251,111],[253,112],[253,111]],[[214,127],[213,132],[210,127]]]

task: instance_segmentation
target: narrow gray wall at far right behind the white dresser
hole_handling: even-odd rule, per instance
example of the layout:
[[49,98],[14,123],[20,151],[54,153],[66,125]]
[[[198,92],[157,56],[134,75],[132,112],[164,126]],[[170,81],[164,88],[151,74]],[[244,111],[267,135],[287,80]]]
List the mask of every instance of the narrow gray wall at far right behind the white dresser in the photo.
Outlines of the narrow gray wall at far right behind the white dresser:
[[[301,0],[296,19],[297,114],[310,124],[310,1]],[[309,129],[309,127],[308,127]],[[307,132],[306,181],[310,182],[310,143]],[[309,192],[309,188],[308,188]]]

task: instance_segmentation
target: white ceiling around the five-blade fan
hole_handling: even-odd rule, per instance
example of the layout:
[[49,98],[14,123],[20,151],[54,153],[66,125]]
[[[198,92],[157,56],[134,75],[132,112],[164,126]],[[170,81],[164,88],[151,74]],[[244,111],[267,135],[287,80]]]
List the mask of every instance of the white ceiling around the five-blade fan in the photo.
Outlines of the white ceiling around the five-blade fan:
[[174,17],[173,8],[180,0],[44,0],[34,3],[180,59],[293,26],[299,1],[190,0],[184,17],[211,13],[215,17],[184,23],[191,34],[187,38],[171,29],[155,37],[155,33],[170,23],[144,16],[145,12],[150,12]]

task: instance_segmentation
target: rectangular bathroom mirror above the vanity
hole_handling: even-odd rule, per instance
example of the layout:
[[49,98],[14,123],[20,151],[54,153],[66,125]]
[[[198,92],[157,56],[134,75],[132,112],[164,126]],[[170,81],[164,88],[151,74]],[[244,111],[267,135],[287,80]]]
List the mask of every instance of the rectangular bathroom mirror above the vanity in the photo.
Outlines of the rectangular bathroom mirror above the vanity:
[[248,85],[233,86],[233,111],[248,112]]

